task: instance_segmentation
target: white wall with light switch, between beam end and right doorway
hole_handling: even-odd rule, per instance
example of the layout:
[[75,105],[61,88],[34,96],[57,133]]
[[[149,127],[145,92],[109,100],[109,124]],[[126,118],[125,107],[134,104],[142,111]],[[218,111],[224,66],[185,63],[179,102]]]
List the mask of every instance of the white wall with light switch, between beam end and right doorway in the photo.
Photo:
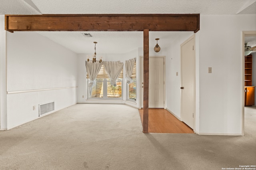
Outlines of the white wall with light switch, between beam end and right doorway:
[[242,134],[242,31],[256,30],[252,21],[256,15],[200,16],[200,134]]

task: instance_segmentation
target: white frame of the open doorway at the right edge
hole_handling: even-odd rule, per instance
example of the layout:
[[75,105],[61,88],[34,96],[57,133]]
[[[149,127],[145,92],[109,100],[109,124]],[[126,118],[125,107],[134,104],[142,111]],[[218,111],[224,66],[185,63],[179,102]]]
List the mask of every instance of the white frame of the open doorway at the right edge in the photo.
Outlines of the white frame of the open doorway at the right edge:
[[242,65],[242,89],[241,89],[241,96],[242,96],[242,100],[241,100],[241,108],[242,108],[242,111],[241,111],[241,125],[242,125],[242,128],[241,128],[241,134],[244,136],[244,37],[245,36],[256,36],[256,31],[242,31],[242,59],[241,59],[241,65]]

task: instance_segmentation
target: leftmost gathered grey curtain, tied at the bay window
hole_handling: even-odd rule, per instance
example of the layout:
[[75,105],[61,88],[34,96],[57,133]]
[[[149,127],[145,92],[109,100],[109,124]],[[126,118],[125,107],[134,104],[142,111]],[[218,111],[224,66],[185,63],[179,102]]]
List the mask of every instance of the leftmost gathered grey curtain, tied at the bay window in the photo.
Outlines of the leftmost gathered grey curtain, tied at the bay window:
[[100,71],[101,65],[102,63],[100,62],[92,63],[92,61],[85,61],[86,71],[90,79],[88,84],[89,96],[92,95],[92,87],[96,85],[95,79]]

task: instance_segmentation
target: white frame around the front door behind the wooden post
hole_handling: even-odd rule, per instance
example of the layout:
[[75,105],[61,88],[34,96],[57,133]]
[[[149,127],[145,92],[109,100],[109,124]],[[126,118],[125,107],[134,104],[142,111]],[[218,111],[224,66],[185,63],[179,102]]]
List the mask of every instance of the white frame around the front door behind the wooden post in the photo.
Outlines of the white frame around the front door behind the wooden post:
[[[139,85],[140,85],[140,88],[138,88],[138,94],[140,94],[140,97],[139,97],[139,99],[140,99],[140,101],[139,101],[139,108],[141,109],[142,108],[142,103],[143,103],[143,97],[142,97],[142,93],[143,93],[143,90],[142,90],[142,76],[141,76],[141,74],[143,73],[143,71],[142,71],[142,67],[141,67],[141,59],[143,58],[143,56],[142,55],[140,55],[140,57],[139,57],[140,59],[139,59],[139,62],[138,62],[138,64],[139,64],[139,67],[140,67],[140,72],[139,72],[139,76],[140,76],[140,79],[139,79]],[[165,58],[166,58],[166,56],[164,56],[164,55],[161,55],[161,56],[155,56],[155,55],[150,55],[149,56],[149,58],[164,58],[164,109],[166,109],[166,72],[165,72],[165,65],[166,65],[166,61],[165,61]]]

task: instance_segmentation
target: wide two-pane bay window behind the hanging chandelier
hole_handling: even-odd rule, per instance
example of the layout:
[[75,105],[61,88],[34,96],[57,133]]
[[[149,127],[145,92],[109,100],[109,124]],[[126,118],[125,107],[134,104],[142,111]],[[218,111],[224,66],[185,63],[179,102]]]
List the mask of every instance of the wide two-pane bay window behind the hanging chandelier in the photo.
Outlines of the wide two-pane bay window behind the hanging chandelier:
[[[100,72],[95,79],[96,85],[92,87],[92,94],[89,96],[89,89],[87,89],[87,99],[122,99],[122,78],[123,71],[121,71],[116,86],[110,84],[110,78],[102,65]],[[87,87],[89,77],[87,75]]]

